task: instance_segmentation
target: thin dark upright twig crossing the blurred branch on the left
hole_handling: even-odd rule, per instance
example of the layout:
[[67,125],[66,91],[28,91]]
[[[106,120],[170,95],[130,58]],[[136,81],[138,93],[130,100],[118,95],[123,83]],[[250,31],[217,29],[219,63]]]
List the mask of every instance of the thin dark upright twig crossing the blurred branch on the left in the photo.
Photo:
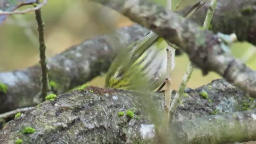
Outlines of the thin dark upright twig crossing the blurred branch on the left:
[[[37,3],[39,3],[39,0],[37,0]],[[46,97],[47,91],[48,91],[48,76],[47,76],[48,70],[47,70],[47,66],[46,66],[46,55],[45,55],[46,46],[45,46],[45,42],[44,42],[44,22],[43,22],[43,18],[41,15],[41,9],[36,10],[35,15],[36,15],[36,21],[37,21],[37,25],[38,25],[37,30],[38,30],[38,35],[39,35],[39,51],[40,51],[39,63],[41,64],[41,70],[42,70],[42,79],[41,79],[42,90],[41,90],[40,97],[43,101],[44,98]]]

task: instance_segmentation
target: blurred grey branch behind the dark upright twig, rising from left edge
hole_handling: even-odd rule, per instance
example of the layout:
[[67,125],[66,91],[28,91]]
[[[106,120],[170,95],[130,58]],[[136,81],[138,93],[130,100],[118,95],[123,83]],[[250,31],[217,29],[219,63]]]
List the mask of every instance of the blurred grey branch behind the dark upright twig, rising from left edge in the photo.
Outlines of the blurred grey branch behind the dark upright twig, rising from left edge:
[[[105,73],[120,47],[145,36],[147,31],[138,25],[121,28],[114,34],[87,39],[48,59],[49,80],[57,84],[53,92],[64,93]],[[0,83],[8,87],[6,94],[0,93],[0,113],[39,103],[40,74],[39,65],[0,73]]]

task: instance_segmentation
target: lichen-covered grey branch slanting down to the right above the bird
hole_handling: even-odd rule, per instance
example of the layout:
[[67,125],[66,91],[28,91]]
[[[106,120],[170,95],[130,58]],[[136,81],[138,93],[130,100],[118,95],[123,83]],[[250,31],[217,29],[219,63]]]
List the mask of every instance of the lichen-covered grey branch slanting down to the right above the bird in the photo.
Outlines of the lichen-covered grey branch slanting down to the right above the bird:
[[256,71],[246,67],[224,50],[216,35],[180,18],[178,14],[143,0],[94,0],[153,30],[185,51],[203,74],[214,71],[243,91],[256,97]]

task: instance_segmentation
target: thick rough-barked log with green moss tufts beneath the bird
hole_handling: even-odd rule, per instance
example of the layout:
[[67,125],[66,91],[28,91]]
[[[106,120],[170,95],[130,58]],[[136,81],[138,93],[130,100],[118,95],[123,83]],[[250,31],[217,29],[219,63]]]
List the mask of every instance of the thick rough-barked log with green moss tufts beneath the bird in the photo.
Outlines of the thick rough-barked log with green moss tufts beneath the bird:
[[[209,98],[203,99],[202,91]],[[18,138],[24,143],[153,143],[152,137],[142,138],[141,124],[161,122],[163,94],[99,87],[61,94],[7,123],[0,132],[0,143],[14,143]],[[187,89],[186,94],[174,115],[170,142],[256,140],[256,111],[250,110],[256,103],[237,87],[219,79],[195,90]],[[117,115],[126,110],[133,110],[135,116]],[[237,112],[241,110],[249,111]],[[36,132],[22,134],[27,126]]]

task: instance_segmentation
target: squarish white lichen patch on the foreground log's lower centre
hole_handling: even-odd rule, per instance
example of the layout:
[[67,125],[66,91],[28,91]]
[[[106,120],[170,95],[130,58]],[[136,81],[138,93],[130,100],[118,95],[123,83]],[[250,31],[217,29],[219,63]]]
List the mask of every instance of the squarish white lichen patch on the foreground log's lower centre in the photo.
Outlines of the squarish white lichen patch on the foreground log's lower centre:
[[155,137],[155,125],[154,124],[141,124],[140,133],[143,139]]

